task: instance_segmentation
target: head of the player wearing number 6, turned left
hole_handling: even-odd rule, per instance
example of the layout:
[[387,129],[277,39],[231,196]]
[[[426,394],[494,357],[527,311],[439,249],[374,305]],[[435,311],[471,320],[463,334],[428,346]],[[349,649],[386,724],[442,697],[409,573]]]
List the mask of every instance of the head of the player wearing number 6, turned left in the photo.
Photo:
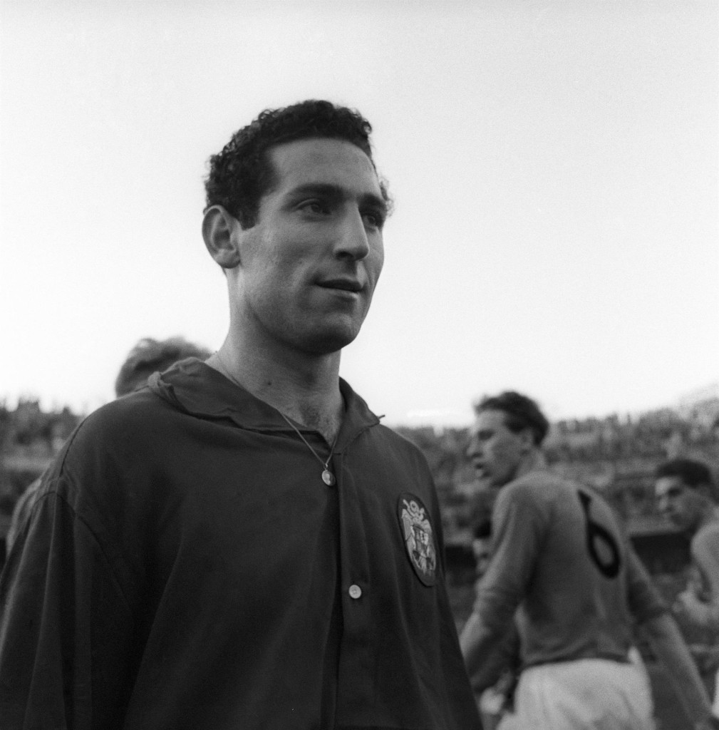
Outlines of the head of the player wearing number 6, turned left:
[[541,447],[549,421],[535,401],[515,391],[483,398],[474,412],[467,455],[482,483],[501,487]]

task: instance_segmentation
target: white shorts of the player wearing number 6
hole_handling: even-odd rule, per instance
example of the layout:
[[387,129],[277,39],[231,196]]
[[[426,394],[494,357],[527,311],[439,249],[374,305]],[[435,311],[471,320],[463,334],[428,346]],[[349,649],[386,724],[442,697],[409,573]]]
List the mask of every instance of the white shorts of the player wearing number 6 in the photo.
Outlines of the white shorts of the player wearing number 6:
[[518,730],[654,730],[653,705],[642,667],[578,659],[525,669],[515,721]]

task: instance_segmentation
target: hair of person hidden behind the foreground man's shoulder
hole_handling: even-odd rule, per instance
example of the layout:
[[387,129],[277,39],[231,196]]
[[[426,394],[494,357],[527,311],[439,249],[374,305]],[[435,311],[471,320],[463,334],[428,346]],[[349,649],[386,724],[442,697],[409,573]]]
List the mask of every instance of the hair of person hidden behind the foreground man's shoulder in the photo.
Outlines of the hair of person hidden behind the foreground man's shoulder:
[[194,345],[183,337],[169,337],[157,340],[143,337],[128,353],[115,380],[115,394],[124,396],[139,386],[156,371],[163,371],[185,358],[206,360],[210,353],[201,345]]

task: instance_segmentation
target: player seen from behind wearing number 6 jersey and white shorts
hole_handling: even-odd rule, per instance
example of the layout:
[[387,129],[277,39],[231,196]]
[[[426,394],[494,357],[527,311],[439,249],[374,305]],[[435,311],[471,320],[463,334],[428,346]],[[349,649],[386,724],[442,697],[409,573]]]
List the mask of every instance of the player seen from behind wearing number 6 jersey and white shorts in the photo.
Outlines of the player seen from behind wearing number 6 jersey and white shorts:
[[710,699],[674,620],[604,499],[547,470],[549,423],[513,391],[476,407],[468,454],[501,488],[492,556],[461,634],[470,675],[517,612],[521,730],[650,730],[646,676],[630,661],[636,621],[672,676],[693,727],[712,727]]

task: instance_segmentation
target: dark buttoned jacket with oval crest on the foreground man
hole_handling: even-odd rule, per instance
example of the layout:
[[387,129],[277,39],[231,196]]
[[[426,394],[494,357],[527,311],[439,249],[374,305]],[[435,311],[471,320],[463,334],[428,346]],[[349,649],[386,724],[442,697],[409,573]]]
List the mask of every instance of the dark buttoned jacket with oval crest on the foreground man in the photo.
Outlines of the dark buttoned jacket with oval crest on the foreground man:
[[479,727],[426,461],[341,386],[332,486],[198,360],[80,424],[0,578],[4,730]]

